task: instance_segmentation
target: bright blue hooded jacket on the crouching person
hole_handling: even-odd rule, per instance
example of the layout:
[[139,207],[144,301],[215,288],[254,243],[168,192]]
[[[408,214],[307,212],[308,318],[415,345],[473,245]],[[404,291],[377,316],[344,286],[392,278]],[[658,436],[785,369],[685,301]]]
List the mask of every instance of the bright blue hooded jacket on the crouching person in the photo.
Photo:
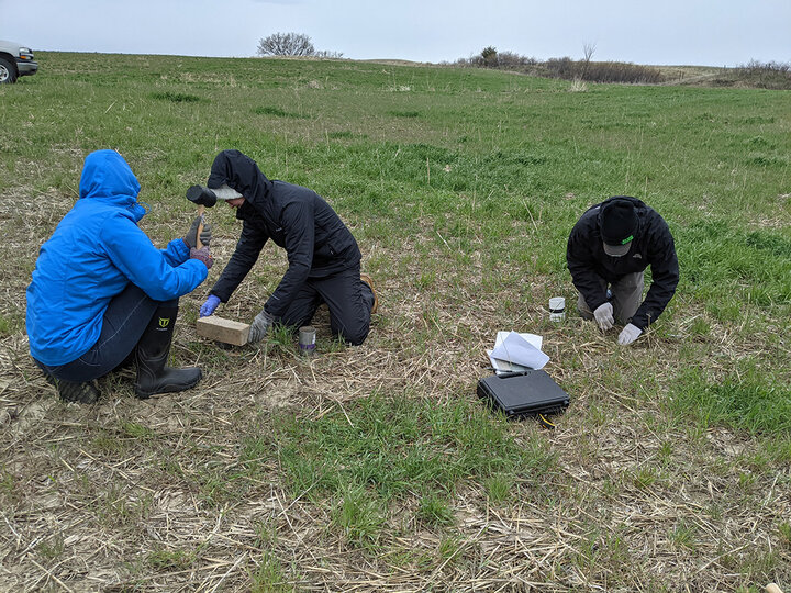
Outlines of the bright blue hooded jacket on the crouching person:
[[42,245],[27,287],[25,324],[40,362],[66,365],[87,353],[99,339],[110,300],[130,282],[155,301],[169,301],[205,280],[207,267],[189,259],[183,240],[157,249],[137,227],[145,214],[138,192],[115,150],[88,155],[80,199]]

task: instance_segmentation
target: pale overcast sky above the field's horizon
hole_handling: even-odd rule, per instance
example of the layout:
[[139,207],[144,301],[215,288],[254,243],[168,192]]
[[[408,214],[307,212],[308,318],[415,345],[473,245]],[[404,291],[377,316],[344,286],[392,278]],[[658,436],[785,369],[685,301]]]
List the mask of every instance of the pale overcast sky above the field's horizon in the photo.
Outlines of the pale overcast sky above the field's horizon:
[[791,61],[791,0],[0,0],[0,38],[33,51],[249,57],[277,32],[353,59]]

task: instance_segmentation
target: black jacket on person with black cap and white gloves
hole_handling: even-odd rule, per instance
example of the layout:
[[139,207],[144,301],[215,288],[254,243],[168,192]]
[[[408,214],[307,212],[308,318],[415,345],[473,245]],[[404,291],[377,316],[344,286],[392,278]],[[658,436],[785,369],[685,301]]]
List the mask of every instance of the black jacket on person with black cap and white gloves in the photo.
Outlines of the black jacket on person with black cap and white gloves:
[[602,202],[582,214],[571,230],[566,260],[573,284],[591,311],[606,302],[606,291],[602,290],[597,276],[612,282],[650,266],[651,286],[631,321],[633,325],[645,329],[665,311],[676,293],[679,281],[676,247],[667,223],[654,209],[636,198],[616,195],[610,200],[615,198],[631,200],[637,209],[639,226],[628,253],[622,257],[611,257],[604,253],[599,228],[601,206],[605,203]]

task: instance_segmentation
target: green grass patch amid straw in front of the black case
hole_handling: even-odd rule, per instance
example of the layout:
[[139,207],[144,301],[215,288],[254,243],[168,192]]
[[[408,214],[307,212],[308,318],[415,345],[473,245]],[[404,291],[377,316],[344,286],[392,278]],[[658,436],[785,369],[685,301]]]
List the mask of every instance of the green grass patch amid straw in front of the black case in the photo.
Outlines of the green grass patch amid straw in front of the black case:
[[331,504],[333,524],[359,545],[378,540],[393,502],[415,499],[417,521],[447,526],[458,486],[486,485],[502,502],[517,495],[506,490],[517,477],[541,488],[555,471],[539,436],[517,443],[508,425],[466,400],[436,406],[370,396],[319,421],[286,415],[274,424],[243,440],[246,471],[259,474],[260,460],[277,456],[292,496]]

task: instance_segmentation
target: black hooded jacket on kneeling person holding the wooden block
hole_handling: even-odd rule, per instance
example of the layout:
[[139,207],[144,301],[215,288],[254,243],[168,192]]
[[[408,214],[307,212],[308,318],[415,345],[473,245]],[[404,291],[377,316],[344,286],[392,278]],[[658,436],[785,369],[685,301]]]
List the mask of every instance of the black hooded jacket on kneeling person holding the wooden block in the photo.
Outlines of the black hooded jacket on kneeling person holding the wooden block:
[[256,163],[238,150],[223,150],[212,164],[208,186],[226,183],[245,197],[236,211],[243,222],[236,250],[212,294],[227,302],[258,259],[267,239],[288,253],[289,267],[264,309],[286,313],[308,278],[323,278],[359,264],[357,242],[335,211],[316,192],[269,180]]

